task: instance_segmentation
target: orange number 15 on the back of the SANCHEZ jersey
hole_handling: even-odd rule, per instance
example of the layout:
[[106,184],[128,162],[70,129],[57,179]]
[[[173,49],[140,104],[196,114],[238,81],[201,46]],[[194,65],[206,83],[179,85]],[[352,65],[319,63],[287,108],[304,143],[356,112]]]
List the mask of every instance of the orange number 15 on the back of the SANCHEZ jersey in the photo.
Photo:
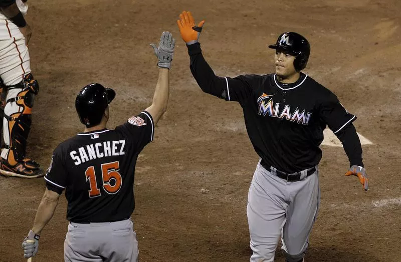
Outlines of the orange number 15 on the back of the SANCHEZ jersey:
[[[120,190],[122,185],[122,177],[118,170],[120,170],[120,163],[118,161],[102,164],[102,184],[106,193],[115,194]],[[89,197],[100,196],[101,192],[97,187],[95,167],[88,167],[85,171],[85,175],[86,181],[89,180]]]

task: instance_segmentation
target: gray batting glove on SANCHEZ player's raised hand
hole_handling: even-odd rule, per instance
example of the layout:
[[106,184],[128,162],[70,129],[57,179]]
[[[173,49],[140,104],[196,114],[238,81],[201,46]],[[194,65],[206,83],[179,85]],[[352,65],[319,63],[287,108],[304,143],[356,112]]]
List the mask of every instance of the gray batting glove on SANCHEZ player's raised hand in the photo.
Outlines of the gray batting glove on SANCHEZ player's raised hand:
[[172,34],[170,32],[163,32],[160,37],[159,47],[156,48],[155,44],[150,44],[150,46],[159,59],[157,63],[159,68],[170,69],[175,47],[175,39],[172,38]]

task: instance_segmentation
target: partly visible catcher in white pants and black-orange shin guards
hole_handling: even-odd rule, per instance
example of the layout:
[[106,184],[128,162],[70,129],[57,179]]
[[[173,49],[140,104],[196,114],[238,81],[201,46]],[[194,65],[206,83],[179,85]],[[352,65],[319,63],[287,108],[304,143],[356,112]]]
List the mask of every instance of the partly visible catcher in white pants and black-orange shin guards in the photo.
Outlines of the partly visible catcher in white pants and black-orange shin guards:
[[39,84],[31,73],[27,45],[32,30],[24,19],[25,2],[0,1],[0,174],[35,178],[44,173],[39,163],[26,156],[26,148]]

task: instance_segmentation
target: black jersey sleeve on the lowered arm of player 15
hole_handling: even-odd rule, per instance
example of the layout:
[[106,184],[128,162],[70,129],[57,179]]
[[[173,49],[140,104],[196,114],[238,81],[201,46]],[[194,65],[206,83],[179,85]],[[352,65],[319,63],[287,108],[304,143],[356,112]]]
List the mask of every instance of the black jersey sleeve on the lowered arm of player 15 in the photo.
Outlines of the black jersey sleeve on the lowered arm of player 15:
[[46,184],[48,184],[50,188],[59,189],[59,191],[56,191],[58,193],[62,192],[62,190],[67,187],[67,170],[65,169],[63,159],[60,147],[56,148],[45,175]]

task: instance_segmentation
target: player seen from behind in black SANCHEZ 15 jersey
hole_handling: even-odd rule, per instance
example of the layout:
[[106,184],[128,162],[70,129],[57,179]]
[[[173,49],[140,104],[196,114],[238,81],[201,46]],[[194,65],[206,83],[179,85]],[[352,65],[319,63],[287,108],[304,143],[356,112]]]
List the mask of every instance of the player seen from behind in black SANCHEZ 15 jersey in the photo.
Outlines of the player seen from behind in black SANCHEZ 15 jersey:
[[114,130],[107,129],[108,104],[115,92],[97,83],[79,92],[75,106],[85,129],[54,150],[45,175],[47,189],[22,244],[26,258],[37,253],[39,235],[65,190],[70,221],[64,242],[66,261],[138,260],[130,218],[135,207],[135,164],[138,154],[153,140],[154,127],[167,108],[175,40],[163,32],[159,47],[151,46],[159,59],[159,77],[152,105],[140,114]]

